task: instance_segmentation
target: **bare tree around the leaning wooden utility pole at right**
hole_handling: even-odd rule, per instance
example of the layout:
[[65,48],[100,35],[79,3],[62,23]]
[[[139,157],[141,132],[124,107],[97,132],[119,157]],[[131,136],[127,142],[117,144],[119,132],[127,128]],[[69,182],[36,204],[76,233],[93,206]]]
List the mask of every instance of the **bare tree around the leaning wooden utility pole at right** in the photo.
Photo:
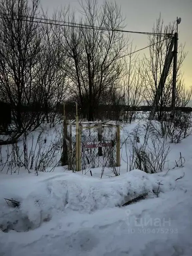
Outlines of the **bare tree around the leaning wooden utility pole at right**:
[[[161,18],[157,20],[156,27],[153,28],[153,32],[157,34],[149,37],[150,58],[145,59],[143,62],[143,81],[146,88],[146,101],[151,106],[153,100],[155,102],[157,120],[160,121],[158,123],[160,129],[158,128],[157,130],[160,131],[163,136],[166,134],[171,139],[171,142],[178,143],[180,140],[191,134],[191,115],[184,115],[181,110],[188,105],[192,95],[191,88],[186,90],[180,71],[183,60],[186,57],[184,46],[182,45],[179,45],[178,47],[174,115],[170,115],[172,109],[173,63],[171,64],[168,76],[164,81],[164,86],[161,88],[162,93],[160,94],[160,101],[158,97],[158,85],[175,28],[175,22],[169,24],[169,26],[164,26]],[[170,48],[170,50],[172,49]]]

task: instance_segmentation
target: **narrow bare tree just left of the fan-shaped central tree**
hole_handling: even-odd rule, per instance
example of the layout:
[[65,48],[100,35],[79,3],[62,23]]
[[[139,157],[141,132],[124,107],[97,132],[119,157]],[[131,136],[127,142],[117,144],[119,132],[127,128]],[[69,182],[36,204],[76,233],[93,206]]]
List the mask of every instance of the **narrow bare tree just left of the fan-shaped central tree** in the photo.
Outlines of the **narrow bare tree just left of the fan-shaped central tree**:
[[[43,16],[46,18],[46,15]],[[61,48],[52,25],[43,24],[42,51],[39,53],[37,90],[41,89],[41,107],[47,123],[53,124],[60,104],[69,96],[69,82],[66,70],[66,54]]]

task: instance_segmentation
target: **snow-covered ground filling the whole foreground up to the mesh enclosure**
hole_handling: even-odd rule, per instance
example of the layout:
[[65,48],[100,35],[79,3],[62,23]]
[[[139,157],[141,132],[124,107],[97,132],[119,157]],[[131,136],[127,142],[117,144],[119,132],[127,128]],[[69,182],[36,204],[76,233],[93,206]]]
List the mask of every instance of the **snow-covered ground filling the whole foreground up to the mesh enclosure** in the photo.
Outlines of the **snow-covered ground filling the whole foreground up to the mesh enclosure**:
[[[6,174],[4,168],[0,256],[191,256],[192,136],[179,144],[167,142],[163,172],[129,171],[125,146],[128,152],[131,147],[124,141],[136,125],[121,130],[118,177],[111,177],[110,168],[102,179],[101,168],[92,169],[92,177],[63,167],[38,176],[23,168],[19,175]],[[175,167],[180,152],[181,168]],[[122,206],[143,194],[145,199]],[[4,198],[19,201],[19,208]]]

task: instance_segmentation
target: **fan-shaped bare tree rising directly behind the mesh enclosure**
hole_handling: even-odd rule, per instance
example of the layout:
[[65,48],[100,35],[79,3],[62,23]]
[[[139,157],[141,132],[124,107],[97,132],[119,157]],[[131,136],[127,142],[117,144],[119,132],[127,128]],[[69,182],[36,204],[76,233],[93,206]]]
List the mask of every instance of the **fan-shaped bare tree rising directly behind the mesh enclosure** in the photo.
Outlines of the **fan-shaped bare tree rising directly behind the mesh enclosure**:
[[[68,56],[67,72],[73,95],[80,101],[84,116],[93,120],[98,105],[110,88],[118,86],[122,72],[122,50],[126,40],[117,29],[123,27],[120,8],[115,3],[104,2],[100,7],[96,0],[81,2],[79,27],[55,27],[58,39]],[[57,18],[75,22],[75,13],[62,11]],[[95,26],[97,29],[95,29]],[[107,28],[102,30],[102,28]]]

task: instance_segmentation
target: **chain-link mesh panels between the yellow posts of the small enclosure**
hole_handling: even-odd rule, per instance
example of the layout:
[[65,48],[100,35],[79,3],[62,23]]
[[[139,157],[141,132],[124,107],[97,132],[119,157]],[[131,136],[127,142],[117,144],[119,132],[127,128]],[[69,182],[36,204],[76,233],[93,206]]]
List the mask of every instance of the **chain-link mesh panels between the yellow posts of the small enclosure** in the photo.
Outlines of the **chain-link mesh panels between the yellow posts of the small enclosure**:
[[[80,158],[82,170],[116,165],[116,127],[80,125]],[[76,170],[76,125],[67,124],[68,169]]]

